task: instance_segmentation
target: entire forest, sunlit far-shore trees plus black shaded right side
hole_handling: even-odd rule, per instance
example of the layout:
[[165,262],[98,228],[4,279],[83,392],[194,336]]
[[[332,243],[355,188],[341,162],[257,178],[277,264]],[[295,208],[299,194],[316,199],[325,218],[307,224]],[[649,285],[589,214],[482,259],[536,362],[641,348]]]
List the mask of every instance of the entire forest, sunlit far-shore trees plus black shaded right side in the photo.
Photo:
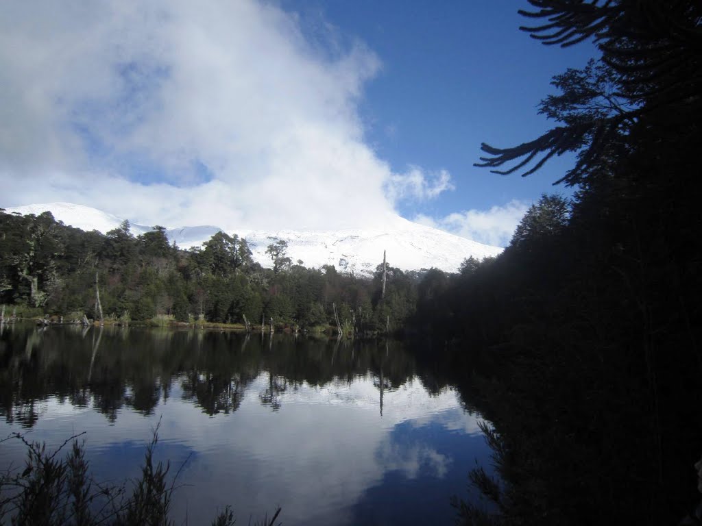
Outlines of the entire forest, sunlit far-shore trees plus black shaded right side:
[[383,295],[382,264],[372,280],[305,269],[273,243],[263,269],[235,236],[183,251],[159,227],[102,236],[3,214],[0,302],[90,313],[97,272],[117,319],[312,328],[336,325],[336,309],[360,332],[404,328],[489,422],[499,477],[478,466],[469,479],[495,506],[459,495],[461,523],[698,524],[702,4],[529,4],[532,38],[591,40],[601,56],[555,76],[538,109],[557,123],[548,132],[483,144],[478,166],[499,175],[577,155],[555,181],[573,197],[542,196],[499,257],[457,274],[390,268]]

